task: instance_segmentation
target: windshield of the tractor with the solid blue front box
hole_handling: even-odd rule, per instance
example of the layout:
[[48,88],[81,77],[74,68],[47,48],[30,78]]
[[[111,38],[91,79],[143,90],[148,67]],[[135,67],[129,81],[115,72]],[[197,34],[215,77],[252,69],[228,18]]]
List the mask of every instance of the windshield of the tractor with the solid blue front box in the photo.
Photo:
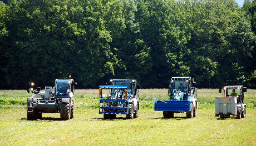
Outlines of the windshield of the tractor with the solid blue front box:
[[170,84],[171,94],[174,95],[177,91],[188,94],[189,83],[186,80],[173,80]]

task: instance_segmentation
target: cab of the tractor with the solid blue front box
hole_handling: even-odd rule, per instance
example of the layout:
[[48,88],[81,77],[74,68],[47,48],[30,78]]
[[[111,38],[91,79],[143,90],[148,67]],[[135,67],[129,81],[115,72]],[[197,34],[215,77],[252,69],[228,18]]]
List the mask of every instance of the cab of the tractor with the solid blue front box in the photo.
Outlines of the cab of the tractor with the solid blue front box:
[[195,82],[191,77],[173,77],[169,84],[170,100],[188,100],[191,93],[195,93]]

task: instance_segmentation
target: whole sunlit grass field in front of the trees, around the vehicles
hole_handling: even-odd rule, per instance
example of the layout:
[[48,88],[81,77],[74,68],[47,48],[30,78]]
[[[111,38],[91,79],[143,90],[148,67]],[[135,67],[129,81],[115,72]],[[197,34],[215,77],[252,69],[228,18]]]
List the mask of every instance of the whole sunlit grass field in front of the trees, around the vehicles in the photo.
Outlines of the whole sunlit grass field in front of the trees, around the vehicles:
[[245,93],[247,117],[214,117],[218,89],[198,89],[197,117],[185,113],[164,119],[154,112],[154,97],[167,99],[166,89],[141,89],[139,118],[125,115],[104,120],[99,114],[99,90],[76,90],[75,118],[60,114],[26,119],[26,90],[0,90],[0,145],[256,145],[256,90]]

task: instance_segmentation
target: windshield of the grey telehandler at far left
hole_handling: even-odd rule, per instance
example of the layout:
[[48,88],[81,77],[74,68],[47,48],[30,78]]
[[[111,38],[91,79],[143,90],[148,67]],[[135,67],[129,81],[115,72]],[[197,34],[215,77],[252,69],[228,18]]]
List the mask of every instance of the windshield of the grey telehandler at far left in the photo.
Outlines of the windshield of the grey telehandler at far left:
[[70,79],[58,79],[55,86],[56,95],[65,95],[70,90]]

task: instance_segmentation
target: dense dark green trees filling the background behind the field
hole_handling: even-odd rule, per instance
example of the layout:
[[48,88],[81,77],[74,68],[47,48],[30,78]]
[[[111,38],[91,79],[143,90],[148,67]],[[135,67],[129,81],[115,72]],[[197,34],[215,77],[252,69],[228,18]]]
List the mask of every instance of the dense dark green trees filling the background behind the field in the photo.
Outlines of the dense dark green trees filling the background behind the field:
[[79,88],[110,79],[161,88],[175,76],[256,88],[255,9],[255,0],[2,1],[0,88],[70,74]]

